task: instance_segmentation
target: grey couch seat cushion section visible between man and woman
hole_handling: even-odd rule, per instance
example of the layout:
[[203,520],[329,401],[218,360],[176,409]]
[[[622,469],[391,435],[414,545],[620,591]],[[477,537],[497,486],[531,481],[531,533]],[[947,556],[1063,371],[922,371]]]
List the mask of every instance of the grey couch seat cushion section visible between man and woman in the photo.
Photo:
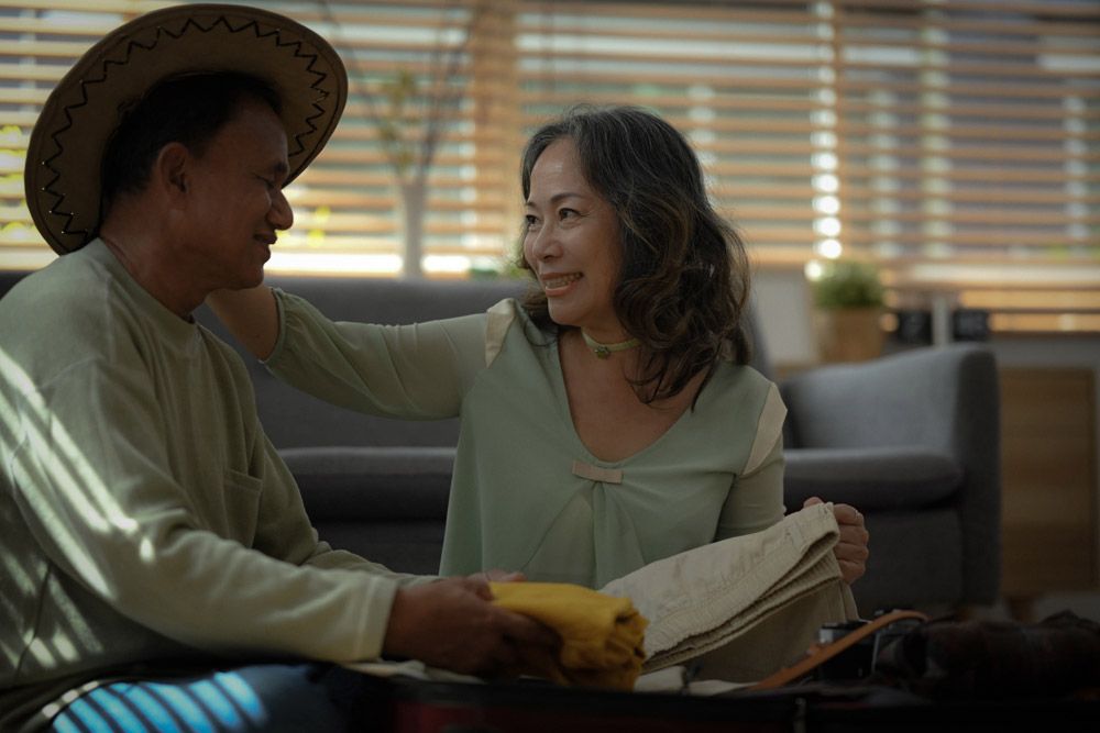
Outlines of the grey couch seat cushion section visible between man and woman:
[[315,523],[447,519],[454,448],[284,448]]

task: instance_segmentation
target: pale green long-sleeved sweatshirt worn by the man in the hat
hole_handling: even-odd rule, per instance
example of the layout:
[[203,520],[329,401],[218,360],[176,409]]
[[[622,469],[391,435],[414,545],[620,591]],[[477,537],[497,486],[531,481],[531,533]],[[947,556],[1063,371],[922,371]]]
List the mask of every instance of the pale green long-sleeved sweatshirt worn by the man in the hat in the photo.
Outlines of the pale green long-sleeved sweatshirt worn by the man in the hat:
[[209,658],[377,657],[399,584],[318,541],[235,352],[96,241],[0,300],[0,730]]

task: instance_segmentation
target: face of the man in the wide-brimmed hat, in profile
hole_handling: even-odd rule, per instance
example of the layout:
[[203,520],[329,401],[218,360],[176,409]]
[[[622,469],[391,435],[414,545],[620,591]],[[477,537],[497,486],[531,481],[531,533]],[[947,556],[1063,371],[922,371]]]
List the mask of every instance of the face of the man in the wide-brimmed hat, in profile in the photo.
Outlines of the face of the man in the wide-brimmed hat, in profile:
[[244,102],[191,170],[184,246],[197,281],[207,290],[260,285],[275,232],[294,223],[283,196],[288,166],[278,115]]

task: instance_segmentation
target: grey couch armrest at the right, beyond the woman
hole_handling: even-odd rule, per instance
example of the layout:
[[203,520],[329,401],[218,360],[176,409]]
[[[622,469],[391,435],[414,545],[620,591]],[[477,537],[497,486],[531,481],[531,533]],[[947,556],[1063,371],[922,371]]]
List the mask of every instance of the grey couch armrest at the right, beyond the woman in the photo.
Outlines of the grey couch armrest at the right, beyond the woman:
[[781,391],[790,448],[904,446],[950,456],[963,471],[964,596],[997,600],[1000,387],[990,349],[955,344],[832,365],[795,375]]

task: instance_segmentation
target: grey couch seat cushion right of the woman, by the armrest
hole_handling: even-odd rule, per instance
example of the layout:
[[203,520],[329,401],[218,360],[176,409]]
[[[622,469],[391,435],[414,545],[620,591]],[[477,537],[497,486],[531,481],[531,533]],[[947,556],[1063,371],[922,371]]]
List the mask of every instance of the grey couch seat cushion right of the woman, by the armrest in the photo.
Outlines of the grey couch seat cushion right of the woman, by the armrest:
[[963,468],[921,448],[790,448],[783,498],[788,510],[816,496],[860,511],[917,509],[958,490]]

